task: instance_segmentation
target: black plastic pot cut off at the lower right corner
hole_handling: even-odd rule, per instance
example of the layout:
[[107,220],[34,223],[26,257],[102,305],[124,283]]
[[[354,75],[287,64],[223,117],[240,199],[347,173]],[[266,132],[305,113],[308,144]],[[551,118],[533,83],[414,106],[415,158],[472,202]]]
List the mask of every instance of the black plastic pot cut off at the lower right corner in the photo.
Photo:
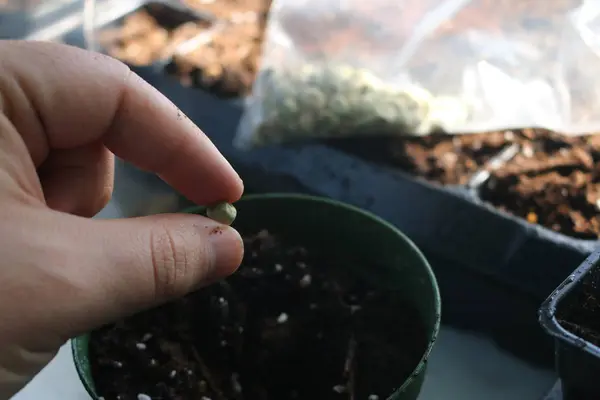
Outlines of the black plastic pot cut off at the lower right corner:
[[[600,398],[600,348],[571,325],[576,321],[575,312],[595,296],[600,298],[600,250],[570,274],[539,311],[540,324],[554,338],[564,400]],[[600,307],[593,311],[588,311],[586,321],[600,320]]]

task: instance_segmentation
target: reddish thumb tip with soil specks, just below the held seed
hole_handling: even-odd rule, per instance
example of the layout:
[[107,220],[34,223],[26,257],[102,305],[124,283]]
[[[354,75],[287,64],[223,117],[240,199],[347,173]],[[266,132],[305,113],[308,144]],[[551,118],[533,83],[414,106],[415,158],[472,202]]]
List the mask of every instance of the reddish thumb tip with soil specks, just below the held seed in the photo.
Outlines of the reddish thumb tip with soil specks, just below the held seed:
[[214,257],[214,268],[210,278],[224,278],[240,266],[244,256],[244,242],[238,231],[230,226],[215,224],[209,229],[208,241]]

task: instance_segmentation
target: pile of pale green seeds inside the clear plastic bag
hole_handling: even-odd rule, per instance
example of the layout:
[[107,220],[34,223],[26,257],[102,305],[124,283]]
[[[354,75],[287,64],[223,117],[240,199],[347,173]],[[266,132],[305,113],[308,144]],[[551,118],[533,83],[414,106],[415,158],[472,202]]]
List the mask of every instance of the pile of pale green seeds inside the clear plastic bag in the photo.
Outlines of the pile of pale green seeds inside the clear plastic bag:
[[[444,112],[448,110],[448,112]],[[466,118],[466,105],[436,98],[416,85],[388,85],[366,69],[307,63],[265,69],[238,128],[236,146],[261,147],[302,139],[421,136],[437,119]]]

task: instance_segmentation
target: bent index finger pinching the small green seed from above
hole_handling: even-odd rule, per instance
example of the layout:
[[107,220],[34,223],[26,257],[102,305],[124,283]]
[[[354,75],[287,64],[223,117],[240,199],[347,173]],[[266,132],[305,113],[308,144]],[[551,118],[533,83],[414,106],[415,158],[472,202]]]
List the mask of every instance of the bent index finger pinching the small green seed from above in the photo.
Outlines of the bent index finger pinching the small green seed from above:
[[0,71],[0,106],[10,106],[32,157],[44,153],[40,143],[65,149],[102,140],[196,203],[242,195],[240,177],[208,137],[123,63],[61,44],[6,41]]

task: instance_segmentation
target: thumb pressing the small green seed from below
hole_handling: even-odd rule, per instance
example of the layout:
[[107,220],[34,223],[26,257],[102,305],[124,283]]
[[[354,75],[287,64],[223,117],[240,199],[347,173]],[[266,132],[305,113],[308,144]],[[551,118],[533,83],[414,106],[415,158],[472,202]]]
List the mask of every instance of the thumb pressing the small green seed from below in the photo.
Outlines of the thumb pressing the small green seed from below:
[[58,311],[68,313],[61,318],[68,335],[183,296],[230,275],[242,261],[238,232],[199,215],[68,217],[78,221],[63,225],[74,242],[69,258],[85,260],[67,268],[78,292]]

